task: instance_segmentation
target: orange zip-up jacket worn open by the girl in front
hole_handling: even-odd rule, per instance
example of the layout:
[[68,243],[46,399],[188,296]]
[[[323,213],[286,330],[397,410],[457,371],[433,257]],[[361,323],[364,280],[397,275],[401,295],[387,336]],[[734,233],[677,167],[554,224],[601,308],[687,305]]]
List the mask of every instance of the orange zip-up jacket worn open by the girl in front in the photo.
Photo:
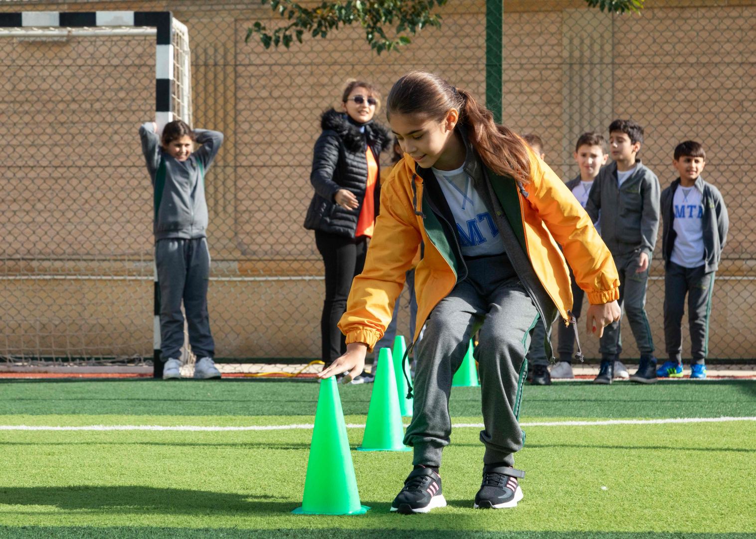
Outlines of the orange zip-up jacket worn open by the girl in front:
[[[572,192],[529,148],[528,154],[531,178],[523,186],[528,196],[524,197],[519,189],[510,191],[516,192],[519,199],[528,259],[566,323],[572,308],[572,290],[565,257],[591,304],[605,304],[619,298],[617,268],[612,254]],[[394,301],[404,286],[404,273],[410,269],[421,239],[425,251],[415,269],[417,329],[413,340],[417,340],[433,308],[457,283],[452,257],[442,252],[443,246],[438,247],[444,242],[438,241],[438,231],[434,229],[437,220],[427,217],[429,208],[423,210],[423,179],[415,173],[415,167],[414,160],[405,154],[383,183],[380,215],[364,269],[352,282],[346,312],[339,321],[347,344],[362,342],[372,350],[383,336],[392,317]],[[514,180],[493,175],[491,182]],[[500,202],[505,210],[516,208],[517,204],[513,200],[500,199]],[[562,245],[563,255],[557,242]]]

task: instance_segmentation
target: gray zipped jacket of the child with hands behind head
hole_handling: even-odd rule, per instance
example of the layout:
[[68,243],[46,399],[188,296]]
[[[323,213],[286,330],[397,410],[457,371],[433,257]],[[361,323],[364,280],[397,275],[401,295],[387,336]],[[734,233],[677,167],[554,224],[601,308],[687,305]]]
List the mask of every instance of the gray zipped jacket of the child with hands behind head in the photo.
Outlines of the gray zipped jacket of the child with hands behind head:
[[155,241],[166,238],[204,238],[207,229],[205,174],[223,143],[223,133],[194,129],[202,147],[178,161],[160,146],[152,123],[139,128],[142,152],[154,188]]

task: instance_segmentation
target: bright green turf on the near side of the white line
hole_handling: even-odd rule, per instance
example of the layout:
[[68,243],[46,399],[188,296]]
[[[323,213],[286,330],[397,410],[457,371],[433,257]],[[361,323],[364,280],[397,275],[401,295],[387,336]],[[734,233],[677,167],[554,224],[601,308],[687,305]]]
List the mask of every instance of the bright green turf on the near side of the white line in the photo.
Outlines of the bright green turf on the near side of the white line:
[[[482,445],[457,428],[449,506],[389,513],[407,453],[353,452],[364,516],[293,516],[310,431],[3,432],[0,525],[745,533],[756,529],[754,422],[533,427],[525,500],[475,511]],[[361,429],[349,430],[355,447]],[[603,490],[602,487],[606,487]],[[273,536],[274,537],[274,536]],[[462,535],[460,534],[460,537]]]

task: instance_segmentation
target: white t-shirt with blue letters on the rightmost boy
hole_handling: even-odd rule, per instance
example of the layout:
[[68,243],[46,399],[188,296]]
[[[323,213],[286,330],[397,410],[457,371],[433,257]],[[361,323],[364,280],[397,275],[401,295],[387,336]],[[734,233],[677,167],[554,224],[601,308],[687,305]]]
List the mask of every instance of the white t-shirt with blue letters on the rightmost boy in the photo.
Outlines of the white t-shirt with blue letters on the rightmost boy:
[[704,207],[695,187],[677,187],[672,201],[673,229],[677,232],[670,260],[678,266],[697,268],[704,263]]

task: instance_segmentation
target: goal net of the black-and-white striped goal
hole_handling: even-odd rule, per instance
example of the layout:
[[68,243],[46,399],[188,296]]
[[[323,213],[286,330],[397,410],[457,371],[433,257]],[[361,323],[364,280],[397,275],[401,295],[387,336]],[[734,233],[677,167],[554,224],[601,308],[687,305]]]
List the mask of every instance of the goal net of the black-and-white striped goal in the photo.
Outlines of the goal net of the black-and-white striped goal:
[[187,28],[167,26],[166,61],[164,29],[134,12],[32,15],[0,28],[0,363],[146,366],[153,202],[137,130],[192,122]]

